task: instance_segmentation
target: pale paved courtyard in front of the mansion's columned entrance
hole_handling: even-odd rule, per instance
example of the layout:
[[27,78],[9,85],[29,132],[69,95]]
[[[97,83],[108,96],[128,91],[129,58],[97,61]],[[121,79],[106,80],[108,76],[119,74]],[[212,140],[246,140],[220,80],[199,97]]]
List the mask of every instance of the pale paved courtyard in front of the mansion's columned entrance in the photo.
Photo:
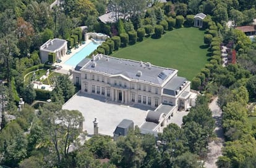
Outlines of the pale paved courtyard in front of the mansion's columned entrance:
[[134,121],[134,126],[140,126],[145,121],[148,110],[145,106],[135,108],[135,106],[115,104],[98,95],[82,93],[72,97],[62,109],[79,110],[85,118],[83,130],[87,130],[88,135],[93,134],[93,121],[97,118],[99,134],[110,136],[113,136],[116,126],[122,119],[131,119]]

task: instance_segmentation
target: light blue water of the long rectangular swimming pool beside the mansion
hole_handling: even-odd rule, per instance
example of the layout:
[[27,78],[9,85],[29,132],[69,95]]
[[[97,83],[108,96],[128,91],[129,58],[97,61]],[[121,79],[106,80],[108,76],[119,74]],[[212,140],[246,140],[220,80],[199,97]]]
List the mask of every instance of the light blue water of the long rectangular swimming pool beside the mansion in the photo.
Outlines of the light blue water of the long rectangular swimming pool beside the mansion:
[[87,46],[83,47],[82,50],[70,57],[64,64],[75,67],[80,61],[83,60],[83,58],[87,57],[87,55],[90,55],[95,49],[97,49],[98,46],[100,46],[100,44],[90,42],[87,44]]

